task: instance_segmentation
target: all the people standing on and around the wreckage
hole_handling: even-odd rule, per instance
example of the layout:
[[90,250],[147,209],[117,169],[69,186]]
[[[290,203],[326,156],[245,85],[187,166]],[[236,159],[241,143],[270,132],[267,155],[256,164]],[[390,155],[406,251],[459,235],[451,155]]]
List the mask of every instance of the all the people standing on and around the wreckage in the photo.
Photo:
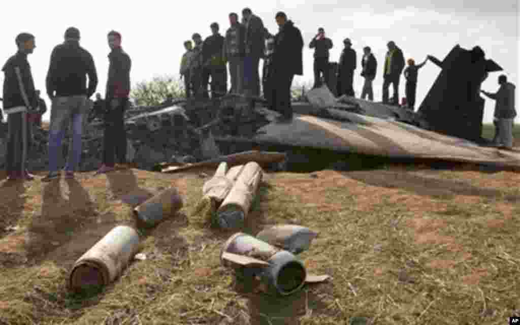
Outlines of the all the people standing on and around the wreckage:
[[[295,75],[303,75],[304,41],[301,31],[279,11],[275,15],[279,30],[270,33],[258,16],[250,8],[242,10],[242,19],[236,12],[229,14],[230,26],[225,36],[219,33],[219,25],[210,25],[212,34],[202,40],[199,33],[186,41],[186,53],[183,55],[179,73],[184,78],[186,97],[201,96],[209,98],[208,86],[212,98],[227,93],[250,98],[251,106],[255,99],[263,94],[269,109],[278,111],[279,122],[292,119],[291,85]],[[105,99],[96,94],[96,102],[90,100],[98,85],[95,63],[92,55],[80,45],[80,31],[71,27],[64,33],[63,43],[57,45],[51,55],[46,76],[46,90],[51,100],[50,127],[48,141],[49,173],[43,181],[61,177],[58,170],[61,158],[61,142],[67,127],[71,128],[72,141],[69,144],[67,164],[64,167],[67,178],[74,177],[74,171],[82,155],[82,128],[86,121],[101,117],[104,120],[102,164],[96,174],[107,173],[118,165],[126,165],[126,132],[124,113],[128,106],[131,90],[130,71],[132,61],[121,47],[122,36],[110,31],[107,43],[109,69]],[[192,43],[193,41],[193,43]],[[16,39],[17,53],[4,64],[3,88],[4,113],[8,115],[8,134],[6,146],[6,171],[8,179],[34,179],[25,167],[27,148],[31,142],[29,124],[40,124],[41,115],[46,111],[45,101],[40,98],[40,90],[35,89],[28,61],[33,53],[35,37],[30,33],[21,33]],[[337,68],[337,95],[355,96],[354,72],[357,69],[357,55],[349,38],[343,41],[344,49]],[[325,36],[323,28],[311,40],[309,48],[314,48],[314,86],[330,80],[329,58],[333,42]],[[406,78],[407,107],[413,110],[418,71],[429,59],[435,64],[438,60],[431,55],[420,64],[408,59],[405,69],[405,57],[402,50],[390,41],[383,68],[383,102],[398,105],[399,81],[401,73]],[[259,60],[263,59],[263,75],[258,74]],[[373,100],[372,82],[376,76],[378,62],[369,46],[363,47],[361,58],[361,76],[365,79],[361,98],[368,96]],[[231,88],[227,89],[227,73],[231,76]],[[88,85],[87,85],[88,76]],[[210,84],[211,80],[211,84]],[[388,88],[393,85],[394,96],[389,98]],[[500,89],[484,95],[497,101],[495,108],[496,137],[493,142],[505,148],[513,144],[512,129],[516,116],[514,108],[515,86],[508,82],[505,75],[499,77]]]

